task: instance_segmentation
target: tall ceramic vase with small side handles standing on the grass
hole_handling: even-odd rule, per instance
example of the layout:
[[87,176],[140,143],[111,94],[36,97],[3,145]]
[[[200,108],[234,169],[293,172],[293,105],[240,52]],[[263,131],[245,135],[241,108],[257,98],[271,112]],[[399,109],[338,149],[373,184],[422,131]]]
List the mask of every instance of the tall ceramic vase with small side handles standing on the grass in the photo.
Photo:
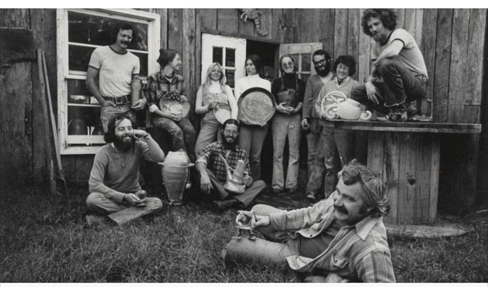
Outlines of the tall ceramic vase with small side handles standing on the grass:
[[190,167],[194,166],[190,162],[186,151],[170,151],[164,159],[161,173],[163,175],[164,185],[168,194],[169,204],[173,206],[182,205],[183,192],[185,185],[190,178]]

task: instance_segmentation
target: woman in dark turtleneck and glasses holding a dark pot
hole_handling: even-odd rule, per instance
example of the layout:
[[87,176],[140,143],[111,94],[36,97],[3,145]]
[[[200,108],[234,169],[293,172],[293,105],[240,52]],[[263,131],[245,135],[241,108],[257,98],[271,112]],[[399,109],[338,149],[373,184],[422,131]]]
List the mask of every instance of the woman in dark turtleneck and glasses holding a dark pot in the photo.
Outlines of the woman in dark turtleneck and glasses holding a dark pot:
[[[280,58],[281,78],[271,83],[271,93],[276,100],[276,113],[273,116],[271,132],[273,135],[273,193],[281,193],[285,187],[288,193],[295,193],[298,187],[298,158],[300,151],[301,110],[305,83],[298,79],[295,60],[290,55]],[[283,172],[283,150],[288,136],[288,170],[286,182]]]

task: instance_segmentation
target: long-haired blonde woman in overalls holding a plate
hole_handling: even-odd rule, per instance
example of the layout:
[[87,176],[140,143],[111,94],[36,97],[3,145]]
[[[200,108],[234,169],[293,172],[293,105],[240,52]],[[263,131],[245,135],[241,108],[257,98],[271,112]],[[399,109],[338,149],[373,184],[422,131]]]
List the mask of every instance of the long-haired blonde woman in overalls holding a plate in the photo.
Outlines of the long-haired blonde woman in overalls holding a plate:
[[[232,89],[226,85],[226,82],[227,78],[225,77],[224,69],[218,62],[215,62],[207,69],[205,83],[198,87],[195,113],[204,116],[200,133],[195,143],[195,154],[197,157],[207,144],[220,138],[219,133],[217,133],[222,127],[219,119],[221,121],[225,121],[224,118],[237,119],[237,102]],[[222,118],[218,119],[216,116]]]

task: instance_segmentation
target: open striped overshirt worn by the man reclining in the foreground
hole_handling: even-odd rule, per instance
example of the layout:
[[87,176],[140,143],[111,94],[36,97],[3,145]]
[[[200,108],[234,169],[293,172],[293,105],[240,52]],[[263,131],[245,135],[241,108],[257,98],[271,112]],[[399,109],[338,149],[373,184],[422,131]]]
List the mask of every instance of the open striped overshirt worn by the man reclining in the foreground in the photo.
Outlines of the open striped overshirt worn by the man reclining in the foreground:
[[[271,226],[293,232],[292,237],[314,238],[335,219],[333,195],[308,208],[271,214]],[[290,256],[291,269],[319,273],[329,282],[395,282],[382,217],[367,216],[339,230],[316,258]]]

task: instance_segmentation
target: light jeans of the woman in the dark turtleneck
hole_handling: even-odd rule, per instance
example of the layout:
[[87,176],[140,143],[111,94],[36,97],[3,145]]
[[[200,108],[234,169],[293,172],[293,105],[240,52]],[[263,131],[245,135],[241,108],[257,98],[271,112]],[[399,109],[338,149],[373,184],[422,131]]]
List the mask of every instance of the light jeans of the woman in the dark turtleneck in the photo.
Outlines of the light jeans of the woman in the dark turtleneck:
[[[298,158],[300,154],[301,115],[276,113],[273,117],[271,132],[273,135],[273,179],[272,188],[282,190],[298,186]],[[283,182],[283,149],[288,136],[288,170],[286,184]]]

